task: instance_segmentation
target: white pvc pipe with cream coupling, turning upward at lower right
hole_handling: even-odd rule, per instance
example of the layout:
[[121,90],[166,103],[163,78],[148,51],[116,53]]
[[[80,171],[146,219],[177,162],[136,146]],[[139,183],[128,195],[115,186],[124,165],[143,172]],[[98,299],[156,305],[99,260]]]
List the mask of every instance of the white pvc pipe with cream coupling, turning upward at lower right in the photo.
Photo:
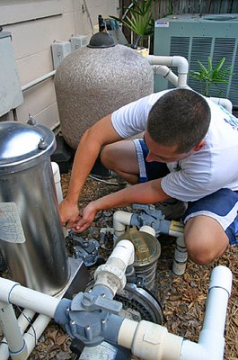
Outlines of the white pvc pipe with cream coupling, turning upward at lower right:
[[232,273],[225,266],[213,270],[207,309],[198,344],[168,333],[160,325],[123,320],[118,344],[144,360],[223,360],[225,315],[232,289]]

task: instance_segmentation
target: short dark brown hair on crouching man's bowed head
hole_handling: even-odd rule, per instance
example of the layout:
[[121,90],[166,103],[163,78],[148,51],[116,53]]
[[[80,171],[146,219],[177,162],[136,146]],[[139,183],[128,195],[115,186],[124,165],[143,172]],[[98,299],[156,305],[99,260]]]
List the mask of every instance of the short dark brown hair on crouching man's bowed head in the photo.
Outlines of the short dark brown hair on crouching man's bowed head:
[[176,88],[163,94],[148,115],[147,131],[155,142],[177,145],[189,152],[207,134],[210,108],[205,98],[193,90]]

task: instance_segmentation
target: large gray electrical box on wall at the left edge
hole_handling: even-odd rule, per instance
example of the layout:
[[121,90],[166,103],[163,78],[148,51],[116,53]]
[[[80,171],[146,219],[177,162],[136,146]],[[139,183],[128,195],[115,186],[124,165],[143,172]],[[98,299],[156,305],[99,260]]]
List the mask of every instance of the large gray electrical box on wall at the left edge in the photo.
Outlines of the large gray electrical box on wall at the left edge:
[[23,103],[11,32],[0,32],[0,116]]

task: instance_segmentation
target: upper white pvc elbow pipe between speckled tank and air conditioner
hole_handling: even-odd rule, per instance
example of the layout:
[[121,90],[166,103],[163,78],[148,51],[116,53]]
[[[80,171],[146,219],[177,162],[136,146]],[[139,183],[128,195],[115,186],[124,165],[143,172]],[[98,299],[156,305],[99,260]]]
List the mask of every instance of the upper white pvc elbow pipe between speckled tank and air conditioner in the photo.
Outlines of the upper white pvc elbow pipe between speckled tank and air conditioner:
[[166,65],[168,67],[178,67],[178,87],[187,86],[187,76],[189,73],[189,62],[187,58],[180,56],[155,56],[148,55],[147,60],[151,65]]

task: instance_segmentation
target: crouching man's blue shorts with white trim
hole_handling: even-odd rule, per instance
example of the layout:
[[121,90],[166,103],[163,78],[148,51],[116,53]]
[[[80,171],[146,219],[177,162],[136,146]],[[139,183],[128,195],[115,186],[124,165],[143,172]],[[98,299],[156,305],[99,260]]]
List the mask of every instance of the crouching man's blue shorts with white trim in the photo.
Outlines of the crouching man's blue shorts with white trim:
[[[164,163],[146,162],[148,148],[143,139],[134,139],[137,148],[137,159],[139,165],[139,182],[153,180],[169,174],[169,169]],[[190,218],[198,215],[209,216],[217,220],[229,238],[230,244],[238,244],[238,192],[230,189],[220,189],[216,193],[211,193],[196,202],[189,202],[188,208],[182,217],[186,222]]]

